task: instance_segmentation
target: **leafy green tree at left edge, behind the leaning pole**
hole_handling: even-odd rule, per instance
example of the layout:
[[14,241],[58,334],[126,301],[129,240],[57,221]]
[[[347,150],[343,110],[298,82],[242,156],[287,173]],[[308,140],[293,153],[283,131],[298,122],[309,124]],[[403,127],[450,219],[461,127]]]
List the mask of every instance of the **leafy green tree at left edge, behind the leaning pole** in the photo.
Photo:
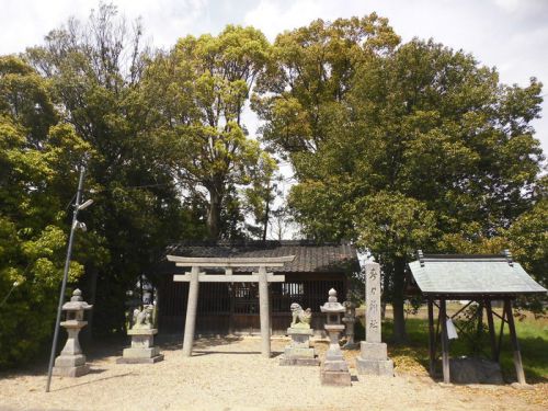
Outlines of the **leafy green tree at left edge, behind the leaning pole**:
[[[0,366],[33,358],[55,322],[62,277],[67,185],[88,149],[59,123],[50,88],[32,67],[0,57]],[[70,279],[82,274],[72,262]],[[4,296],[9,298],[5,298]]]

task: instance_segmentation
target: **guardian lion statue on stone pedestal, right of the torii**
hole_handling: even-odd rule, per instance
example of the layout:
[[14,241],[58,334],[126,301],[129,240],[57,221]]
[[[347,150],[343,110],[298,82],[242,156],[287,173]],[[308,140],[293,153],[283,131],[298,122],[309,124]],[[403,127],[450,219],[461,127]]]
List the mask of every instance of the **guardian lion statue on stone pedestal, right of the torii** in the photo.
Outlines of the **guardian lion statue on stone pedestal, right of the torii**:
[[279,365],[320,365],[320,359],[310,346],[310,335],[313,335],[313,330],[310,328],[312,319],[310,308],[304,310],[297,302],[294,302],[292,317],[292,324],[287,329],[292,342],[285,347]]

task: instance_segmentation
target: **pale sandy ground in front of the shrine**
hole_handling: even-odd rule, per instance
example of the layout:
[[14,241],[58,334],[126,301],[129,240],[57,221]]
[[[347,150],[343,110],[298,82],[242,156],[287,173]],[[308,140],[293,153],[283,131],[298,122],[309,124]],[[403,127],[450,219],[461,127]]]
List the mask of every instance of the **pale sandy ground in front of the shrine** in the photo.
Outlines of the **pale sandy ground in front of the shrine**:
[[[201,339],[192,357],[181,344],[161,344],[163,362],[116,364],[122,346],[94,351],[92,372],[54,377],[44,392],[45,366],[0,375],[0,410],[546,410],[548,385],[443,386],[426,373],[396,364],[396,377],[356,375],[358,351],[345,353],[352,387],[324,387],[319,367],[279,366],[287,339],[273,338],[272,358],[255,336]],[[315,345],[323,358],[327,341]]]

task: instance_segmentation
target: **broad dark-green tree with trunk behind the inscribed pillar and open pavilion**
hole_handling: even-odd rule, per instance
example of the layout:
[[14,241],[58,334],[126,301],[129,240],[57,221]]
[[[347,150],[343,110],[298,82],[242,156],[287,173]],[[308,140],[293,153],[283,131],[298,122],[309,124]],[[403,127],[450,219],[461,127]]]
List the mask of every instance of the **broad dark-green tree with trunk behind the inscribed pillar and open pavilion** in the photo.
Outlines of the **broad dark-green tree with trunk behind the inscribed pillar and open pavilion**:
[[[383,36],[369,42],[396,46],[386,41],[396,37],[386,21],[373,18]],[[324,56],[338,43],[321,39],[289,43],[286,50]],[[530,121],[540,110],[541,84],[501,84],[494,69],[432,41],[385,46],[384,53],[362,45],[367,42],[347,48],[352,75],[329,104],[310,104],[315,93],[301,92],[311,84],[302,69],[278,88],[293,72],[278,59],[284,70],[264,80],[259,113],[267,122],[263,137],[296,169],[290,205],[297,220],[312,238],[353,239],[383,260],[395,336],[403,339],[402,278],[412,249],[447,251],[455,236],[495,238],[532,207],[543,153]],[[289,103],[298,110],[283,110]]]

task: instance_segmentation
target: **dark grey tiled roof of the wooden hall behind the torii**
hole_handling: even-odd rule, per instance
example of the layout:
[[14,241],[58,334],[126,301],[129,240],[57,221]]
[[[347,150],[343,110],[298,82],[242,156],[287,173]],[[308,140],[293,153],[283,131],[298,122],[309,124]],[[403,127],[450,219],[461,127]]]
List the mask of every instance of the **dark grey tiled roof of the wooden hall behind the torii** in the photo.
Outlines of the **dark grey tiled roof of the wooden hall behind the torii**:
[[[270,267],[277,273],[339,273],[359,270],[356,250],[351,244],[309,241],[247,241],[247,242],[186,242],[168,247],[165,254],[195,258],[283,256],[295,260],[283,267]],[[236,272],[249,272],[239,269]]]

